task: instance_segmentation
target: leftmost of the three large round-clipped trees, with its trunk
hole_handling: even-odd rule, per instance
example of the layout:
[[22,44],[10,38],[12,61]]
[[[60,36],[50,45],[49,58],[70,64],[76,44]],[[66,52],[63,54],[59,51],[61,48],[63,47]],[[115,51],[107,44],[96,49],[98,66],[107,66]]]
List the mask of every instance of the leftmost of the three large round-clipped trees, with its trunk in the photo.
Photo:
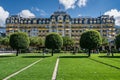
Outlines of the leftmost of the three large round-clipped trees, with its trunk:
[[29,38],[26,33],[16,32],[10,35],[9,44],[13,49],[17,50],[16,56],[19,54],[20,49],[26,49],[29,46]]

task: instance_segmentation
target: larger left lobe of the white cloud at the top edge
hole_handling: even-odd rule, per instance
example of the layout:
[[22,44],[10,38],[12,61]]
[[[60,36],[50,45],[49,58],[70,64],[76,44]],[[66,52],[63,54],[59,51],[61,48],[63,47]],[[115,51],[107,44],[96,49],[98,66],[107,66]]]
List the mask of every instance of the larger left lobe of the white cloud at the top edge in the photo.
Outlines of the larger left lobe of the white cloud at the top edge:
[[75,3],[77,0],[59,0],[60,4],[62,4],[65,9],[75,8]]

